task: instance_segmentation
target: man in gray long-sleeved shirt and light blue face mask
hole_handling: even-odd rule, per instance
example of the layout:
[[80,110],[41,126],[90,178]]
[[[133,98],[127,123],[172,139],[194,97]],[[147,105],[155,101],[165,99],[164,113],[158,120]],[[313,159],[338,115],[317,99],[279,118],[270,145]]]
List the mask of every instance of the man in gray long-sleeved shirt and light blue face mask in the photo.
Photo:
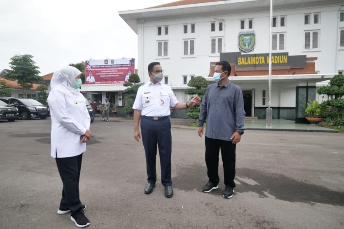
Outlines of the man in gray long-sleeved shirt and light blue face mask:
[[227,61],[218,62],[214,70],[216,83],[207,87],[201,104],[198,119],[198,135],[203,136],[205,130],[205,162],[209,182],[203,187],[203,192],[211,192],[218,188],[218,157],[221,149],[225,191],[223,197],[231,198],[235,187],[235,148],[244,134],[244,98],[241,88],[228,81],[230,64]]

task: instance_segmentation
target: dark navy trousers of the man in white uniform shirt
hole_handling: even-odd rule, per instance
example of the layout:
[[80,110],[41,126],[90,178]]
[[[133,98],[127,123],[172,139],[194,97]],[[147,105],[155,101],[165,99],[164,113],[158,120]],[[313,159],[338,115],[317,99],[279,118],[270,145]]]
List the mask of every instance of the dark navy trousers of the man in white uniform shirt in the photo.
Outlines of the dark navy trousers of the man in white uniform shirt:
[[157,144],[160,156],[161,183],[167,187],[172,185],[171,181],[171,122],[168,116],[153,117],[142,116],[141,133],[144,152],[146,153],[146,165],[148,183],[155,184],[157,181],[156,160]]

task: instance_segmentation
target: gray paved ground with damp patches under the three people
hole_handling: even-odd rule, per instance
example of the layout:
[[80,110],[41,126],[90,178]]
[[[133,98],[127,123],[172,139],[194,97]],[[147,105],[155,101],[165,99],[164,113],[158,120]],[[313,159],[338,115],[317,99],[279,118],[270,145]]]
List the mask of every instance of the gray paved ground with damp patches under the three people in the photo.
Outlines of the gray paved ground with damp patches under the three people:
[[[143,146],[132,137],[132,121],[92,124],[80,178],[90,228],[344,228],[343,133],[246,131],[235,195],[224,199],[223,183],[201,192],[204,139],[178,124],[171,199],[160,183],[143,194]],[[0,141],[0,228],[76,228],[56,214],[62,183],[50,158],[50,120],[0,121]]]

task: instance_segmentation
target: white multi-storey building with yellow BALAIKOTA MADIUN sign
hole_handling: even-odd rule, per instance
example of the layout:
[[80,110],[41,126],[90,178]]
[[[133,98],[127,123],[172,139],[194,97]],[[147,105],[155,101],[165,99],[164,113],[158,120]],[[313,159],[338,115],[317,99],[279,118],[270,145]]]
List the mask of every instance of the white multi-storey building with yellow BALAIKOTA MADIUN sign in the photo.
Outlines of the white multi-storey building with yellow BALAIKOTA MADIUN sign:
[[[305,104],[322,99],[316,95],[316,82],[344,71],[342,4],[339,0],[274,0],[273,53],[286,54],[288,61],[294,56],[303,59],[295,59],[294,67],[273,65],[273,118],[302,122]],[[149,81],[148,64],[160,62],[165,71],[163,82],[172,87],[179,101],[185,102],[189,99],[184,94],[187,82],[194,76],[212,81],[217,61],[229,61],[228,55],[242,58],[269,52],[269,7],[270,0],[210,0],[195,4],[183,0],[119,14],[138,35],[141,81]],[[254,34],[251,51],[240,50],[240,34]],[[265,118],[267,67],[245,63],[247,66],[241,68],[243,63],[239,65],[238,59],[229,61],[229,80],[243,89],[248,116]],[[183,117],[183,112],[173,115]]]

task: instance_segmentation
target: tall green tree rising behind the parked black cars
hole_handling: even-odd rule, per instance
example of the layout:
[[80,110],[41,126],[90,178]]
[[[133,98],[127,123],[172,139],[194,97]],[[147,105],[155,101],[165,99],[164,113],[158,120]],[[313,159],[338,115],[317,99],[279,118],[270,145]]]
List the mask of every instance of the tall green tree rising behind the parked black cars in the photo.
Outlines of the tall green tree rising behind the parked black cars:
[[39,67],[32,60],[32,55],[15,55],[11,58],[10,72],[6,74],[6,77],[17,80],[18,85],[23,88],[23,97],[26,98],[26,90],[33,87],[33,82],[41,80],[38,76],[41,73]]

